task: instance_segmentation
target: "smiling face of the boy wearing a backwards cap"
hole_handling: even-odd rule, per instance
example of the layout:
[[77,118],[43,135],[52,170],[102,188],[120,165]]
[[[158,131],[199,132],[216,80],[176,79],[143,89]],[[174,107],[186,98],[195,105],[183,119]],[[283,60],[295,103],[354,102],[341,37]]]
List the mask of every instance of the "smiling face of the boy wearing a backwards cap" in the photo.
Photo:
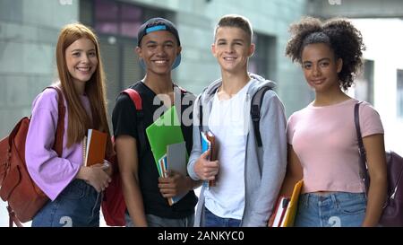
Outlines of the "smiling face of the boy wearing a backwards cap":
[[141,39],[141,47],[136,52],[144,61],[147,73],[170,74],[181,49],[171,32],[152,31]]

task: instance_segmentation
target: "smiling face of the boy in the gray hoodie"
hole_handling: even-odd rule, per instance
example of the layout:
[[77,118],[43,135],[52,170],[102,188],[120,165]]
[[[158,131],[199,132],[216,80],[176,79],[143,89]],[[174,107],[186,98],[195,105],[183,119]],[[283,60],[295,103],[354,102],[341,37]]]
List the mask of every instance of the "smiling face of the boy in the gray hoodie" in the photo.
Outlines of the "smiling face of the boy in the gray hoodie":
[[253,55],[254,45],[240,28],[219,27],[211,52],[219,61],[221,70],[237,73],[247,69],[248,58]]

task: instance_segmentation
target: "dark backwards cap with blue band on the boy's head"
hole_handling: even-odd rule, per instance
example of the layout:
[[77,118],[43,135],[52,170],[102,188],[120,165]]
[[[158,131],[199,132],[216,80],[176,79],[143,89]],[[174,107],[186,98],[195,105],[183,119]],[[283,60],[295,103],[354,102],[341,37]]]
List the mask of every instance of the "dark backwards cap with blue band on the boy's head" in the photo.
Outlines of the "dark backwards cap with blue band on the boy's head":
[[152,31],[169,31],[171,32],[177,40],[177,46],[181,46],[181,41],[179,39],[179,34],[176,30],[176,26],[173,22],[169,22],[164,18],[152,18],[149,21],[143,23],[137,31],[137,46],[140,47],[141,39]]

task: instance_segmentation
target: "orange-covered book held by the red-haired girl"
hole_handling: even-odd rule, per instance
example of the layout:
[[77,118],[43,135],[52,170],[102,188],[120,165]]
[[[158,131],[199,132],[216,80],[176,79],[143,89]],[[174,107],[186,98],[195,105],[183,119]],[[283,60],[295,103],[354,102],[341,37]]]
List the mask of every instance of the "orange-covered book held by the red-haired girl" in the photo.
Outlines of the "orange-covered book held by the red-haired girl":
[[107,133],[96,129],[89,129],[87,136],[85,166],[103,163],[107,148]]

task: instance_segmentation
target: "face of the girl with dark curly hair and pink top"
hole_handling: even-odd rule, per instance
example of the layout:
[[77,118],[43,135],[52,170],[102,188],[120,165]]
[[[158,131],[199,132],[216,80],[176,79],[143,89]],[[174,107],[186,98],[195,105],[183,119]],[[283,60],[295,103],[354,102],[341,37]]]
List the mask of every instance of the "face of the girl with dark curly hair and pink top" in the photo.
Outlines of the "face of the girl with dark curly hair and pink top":
[[336,60],[334,52],[328,45],[324,43],[306,45],[301,60],[306,82],[315,92],[339,90],[342,60],[341,58]]

